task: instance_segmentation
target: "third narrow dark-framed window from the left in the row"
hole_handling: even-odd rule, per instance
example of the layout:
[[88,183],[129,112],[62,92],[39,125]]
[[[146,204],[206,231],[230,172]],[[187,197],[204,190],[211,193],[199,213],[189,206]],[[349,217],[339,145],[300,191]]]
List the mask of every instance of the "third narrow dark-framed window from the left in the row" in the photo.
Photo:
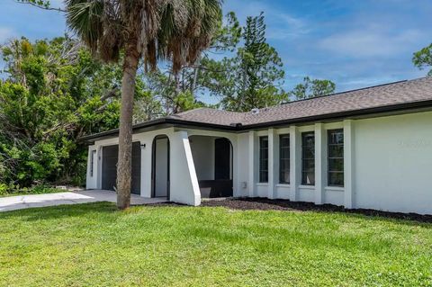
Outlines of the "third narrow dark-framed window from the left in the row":
[[315,185],[315,133],[302,133],[302,184]]

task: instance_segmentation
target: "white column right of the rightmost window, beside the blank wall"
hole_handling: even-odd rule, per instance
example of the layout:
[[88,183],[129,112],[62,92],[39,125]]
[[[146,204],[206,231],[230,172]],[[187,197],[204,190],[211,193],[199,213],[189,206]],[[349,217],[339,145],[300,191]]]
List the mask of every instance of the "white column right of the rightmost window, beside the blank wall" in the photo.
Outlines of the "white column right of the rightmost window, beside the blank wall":
[[352,120],[344,121],[344,205],[355,208],[354,202],[354,128]]

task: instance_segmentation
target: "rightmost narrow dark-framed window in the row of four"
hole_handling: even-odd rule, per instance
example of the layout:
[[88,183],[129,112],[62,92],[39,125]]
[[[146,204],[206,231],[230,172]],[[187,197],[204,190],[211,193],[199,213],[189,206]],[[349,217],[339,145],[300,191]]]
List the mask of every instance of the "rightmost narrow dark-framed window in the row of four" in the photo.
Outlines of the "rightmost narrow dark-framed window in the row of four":
[[329,186],[344,186],[344,130],[329,130]]

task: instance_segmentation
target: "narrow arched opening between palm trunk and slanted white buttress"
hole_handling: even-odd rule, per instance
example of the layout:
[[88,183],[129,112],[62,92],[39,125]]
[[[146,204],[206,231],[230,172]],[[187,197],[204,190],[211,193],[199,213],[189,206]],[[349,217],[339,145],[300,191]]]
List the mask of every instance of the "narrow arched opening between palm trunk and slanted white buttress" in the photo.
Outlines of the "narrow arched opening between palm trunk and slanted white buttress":
[[160,135],[153,139],[151,196],[169,199],[169,139]]

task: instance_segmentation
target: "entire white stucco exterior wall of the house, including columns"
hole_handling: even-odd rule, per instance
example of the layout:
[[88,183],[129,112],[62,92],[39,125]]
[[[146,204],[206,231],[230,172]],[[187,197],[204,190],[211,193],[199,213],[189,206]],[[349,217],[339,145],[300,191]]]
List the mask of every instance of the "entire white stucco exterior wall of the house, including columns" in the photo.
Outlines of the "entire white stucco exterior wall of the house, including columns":
[[[213,160],[211,139],[227,138],[233,148],[233,193],[235,197],[267,197],[297,202],[336,204],[432,214],[432,112],[287,126],[243,133],[174,128],[133,136],[141,151],[141,196],[151,196],[151,145],[157,135],[166,135],[171,148],[171,200],[191,205],[201,203],[199,179],[212,178],[214,171],[202,168]],[[344,130],[344,186],[328,186],[328,130]],[[302,185],[302,132],[315,132],[315,185]],[[290,135],[290,184],[279,183],[279,135]],[[204,136],[208,138],[194,138]],[[259,183],[259,137],[269,138],[268,183]],[[192,139],[189,143],[188,139]],[[198,141],[199,142],[198,142]],[[208,142],[207,142],[208,141]],[[87,188],[101,186],[102,147],[117,139],[95,142],[89,147]],[[191,147],[193,146],[193,151]],[[201,148],[197,148],[201,147]],[[90,176],[91,152],[96,150],[94,176]],[[213,148],[211,148],[213,150]],[[206,163],[205,165],[208,165]],[[214,166],[214,165],[212,165]]]

